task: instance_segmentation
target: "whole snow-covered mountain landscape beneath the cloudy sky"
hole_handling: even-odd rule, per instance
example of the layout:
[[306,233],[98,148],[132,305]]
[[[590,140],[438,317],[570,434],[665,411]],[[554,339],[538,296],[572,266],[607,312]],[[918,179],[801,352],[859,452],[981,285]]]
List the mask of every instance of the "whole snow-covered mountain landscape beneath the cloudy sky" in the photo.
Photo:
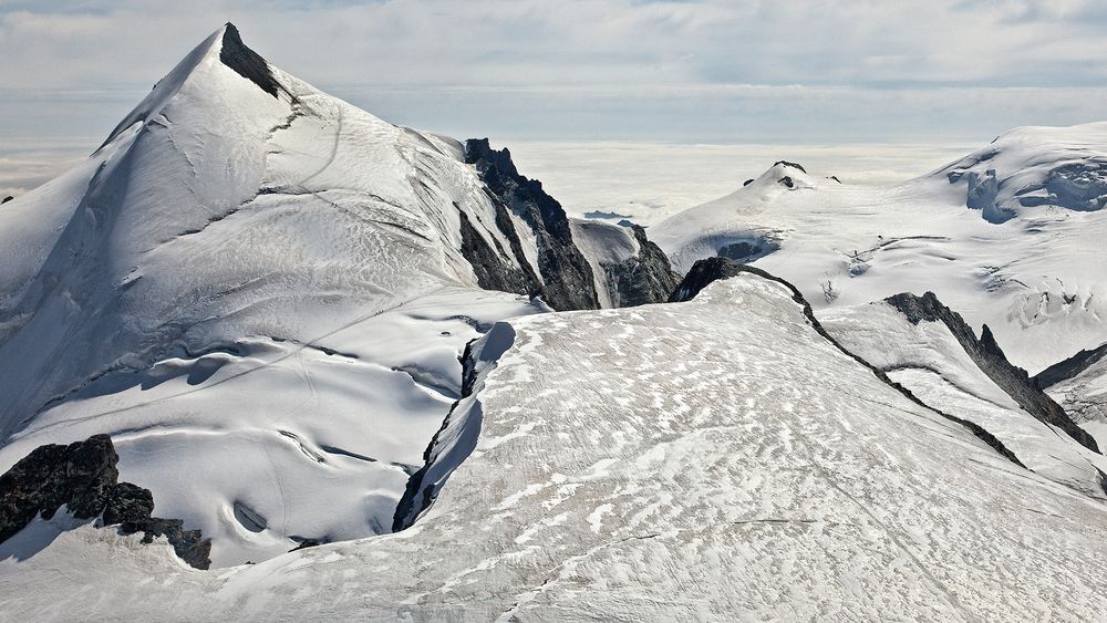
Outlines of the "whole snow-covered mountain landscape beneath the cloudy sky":
[[[1107,124],[1022,128],[896,188],[780,162],[569,219],[227,24],[0,209],[0,474],[49,474],[0,490],[0,612],[1101,616],[1105,172]],[[20,515],[108,475],[118,521]]]

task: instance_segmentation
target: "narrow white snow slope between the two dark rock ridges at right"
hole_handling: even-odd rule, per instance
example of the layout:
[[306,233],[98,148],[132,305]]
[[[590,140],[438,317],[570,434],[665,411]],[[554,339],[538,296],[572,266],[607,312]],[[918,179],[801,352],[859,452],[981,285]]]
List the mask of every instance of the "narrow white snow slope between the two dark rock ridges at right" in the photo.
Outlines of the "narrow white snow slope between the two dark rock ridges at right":
[[980,425],[1035,473],[1107,499],[1107,459],[1023,411],[973,363],[941,321],[912,324],[884,302],[831,308],[823,326],[930,406]]

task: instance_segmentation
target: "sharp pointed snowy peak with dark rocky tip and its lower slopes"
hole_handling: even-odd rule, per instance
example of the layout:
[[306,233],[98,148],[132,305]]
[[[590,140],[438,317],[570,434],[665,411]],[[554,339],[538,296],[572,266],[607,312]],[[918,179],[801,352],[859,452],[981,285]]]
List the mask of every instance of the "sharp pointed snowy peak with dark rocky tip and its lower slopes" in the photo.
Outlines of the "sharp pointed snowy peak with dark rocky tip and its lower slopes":
[[459,215],[510,243],[458,143],[250,54],[219,29],[0,211],[0,465],[111,434],[217,565],[387,531],[465,344],[546,310],[477,290]]

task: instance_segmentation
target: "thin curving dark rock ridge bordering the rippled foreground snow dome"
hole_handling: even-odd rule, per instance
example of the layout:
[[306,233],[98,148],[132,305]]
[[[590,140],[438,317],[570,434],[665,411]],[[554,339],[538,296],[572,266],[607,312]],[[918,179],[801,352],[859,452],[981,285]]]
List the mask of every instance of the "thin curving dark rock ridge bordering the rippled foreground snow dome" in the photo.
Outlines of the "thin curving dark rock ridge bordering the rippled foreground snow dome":
[[670,297],[669,300],[671,302],[691,300],[695,298],[696,294],[699,294],[704,288],[706,288],[712,282],[717,281],[720,279],[730,279],[731,277],[741,274],[743,272],[748,272],[752,274],[756,274],[757,277],[768,279],[770,281],[776,281],[777,283],[780,283],[786,288],[788,288],[788,290],[792,292],[792,299],[804,308],[804,316],[807,318],[807,322],[809,322],[811,328],[815,329],[815,331],[818,332],[819,335],[821,335],[824,339],[830,342],[830,344],[832,344],[836,349],[841,351],[845,355],[849,356],[853,361],[867,367],[869,372],[872,373],[873,376],[876,376],[878,380],[880,380],[889,387],[902,394],[906,398],[908,398],[912,403],[923,408],[930,409],[951,422],[964,426],[976,438],[987,444],[992,449],[994,449],[996,453],[999,453],[1001,456],[1003,456],[1011,463],[1023,468],[1026,467],[1025,465],[1023,465],[1021,460],[1018,460],[1018,457],[1016,457],[1014,453],[1007,449],[1007,447],[1003,444],[1003,442],[997,439],[995,435],[989,433],[984,427],[973,422],[969,422],[968,419],[961,419],[955,415],[945,413],[941,409],[928,405],[927,403],[922,402],[922,399],[920,399],[918,396],[915,396],[910,390],[892,381],[887,374],[884,374],[883,371],[872,365],[863,357],[850,352],[845,346],[842,346],[837,340],[834,339],[832,335],[830,335],[830,333],[827,332],[826,329],[823,328],[823,324],[818,321],[818,319],[815,318],[815,312],[814,310],[811,310],[810,303],[808,303],[807,299],[805,299],[804,295],[800,294],[799,290],[797,290],[796,287],[789,283],[788,281],[785,281],[779,277],[769,274],[768,272],[765,272],[764,270],[761,270],[758,268],[735,263],[726,258],[717,258],[717,257],[707,258],[705,260],[700,260],[692,266],[692,269],[687,272],[686,276],[684,276],[684,280],[681,281],[681,283],[676,287],[676,290],[673,291],[673,295]]

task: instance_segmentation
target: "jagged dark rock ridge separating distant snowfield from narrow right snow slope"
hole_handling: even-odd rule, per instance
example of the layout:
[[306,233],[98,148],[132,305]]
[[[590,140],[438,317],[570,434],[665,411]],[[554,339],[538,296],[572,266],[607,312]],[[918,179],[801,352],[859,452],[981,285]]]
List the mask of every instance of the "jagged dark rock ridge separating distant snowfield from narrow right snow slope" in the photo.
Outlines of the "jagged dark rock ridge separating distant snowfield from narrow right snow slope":
[[927,292],[922,297],[896,294],[884,301],[906,315],[912,324],[921,321],[944,323],[973,363],[1014,398],[1020,407],[1037,419],[1061,428],[1088,449],[1099,451],[1092,435],[1077,426],[1065,409],[1031,380],[1025,370],[1007,361],[986,324],[977,339],[961,314],[942,304],[933,292]]

